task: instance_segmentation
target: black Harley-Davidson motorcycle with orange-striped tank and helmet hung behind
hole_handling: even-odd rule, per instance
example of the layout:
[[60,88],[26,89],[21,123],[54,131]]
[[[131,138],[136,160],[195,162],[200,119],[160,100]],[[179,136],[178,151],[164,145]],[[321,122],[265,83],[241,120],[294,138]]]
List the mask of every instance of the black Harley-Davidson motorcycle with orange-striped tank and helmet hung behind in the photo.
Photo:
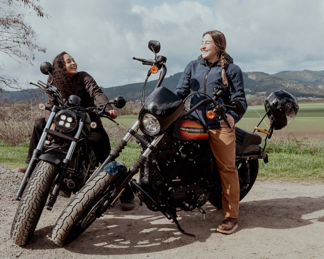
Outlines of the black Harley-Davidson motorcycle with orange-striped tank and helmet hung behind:
[[[97,218],[112,208],[130,183],[133,192],[139,197],[141,204],[148,209],[160,211],[169,220],[173,220],[179,230],[187,235],[179,225],[177,212],[197,208],[205,213],[202,206],[209,201],[217,208],[222,208],[222,188],[214,156],[208,142],[208,132],[199,119],[191,113],[199,106],[211,103],[209,115],[217,113],[224,118],[231,129],[226,116],[225,105],[220,105],[220,98],[226,87],[215,89],[213,97],[207,96],[202,102],[186,110],[184,102],[172,91],[161,86],[166,74],[164,56],[156,56],[160,50],[158,41],[148,44],[155,58],[138,59],[150,65],[145,84],[152,73],[160,70],[159,80],[153,93],[142,106],[138,120],[117,145],[111,150],[105,162],[73,197],[71,202],[56,221],[52,231],[52,240],[60,246],[75,240]],[[142,93],[142,98],[143,98]],[[268,162],[265,152],[267,139],[273,129],[286,126],[298,110],[295,98],[280,90],[273,92],[265,104],[266,115],[271,120],[269,130],[256,127],[255,130],[266,133],[264,147],[262,138],[245,129],[236,127],[236,165],[238,168],[240,199],[245,197],[253,186],[259,170],[259,159]],[[283,104],[280,106],[280,104]],[[280,106],[280,107],[279,107]],[[238,100],[232,100],[228,106],[238,114],[245,112]],[[141,130],[143,134],[138,133]],[[232,129],[231,129],[232,130]],[[135,137],[141,146],[141,154],[127,170],[126,166],[116,161],[122,149]],[[139,172],[139,182],[133,176]]]

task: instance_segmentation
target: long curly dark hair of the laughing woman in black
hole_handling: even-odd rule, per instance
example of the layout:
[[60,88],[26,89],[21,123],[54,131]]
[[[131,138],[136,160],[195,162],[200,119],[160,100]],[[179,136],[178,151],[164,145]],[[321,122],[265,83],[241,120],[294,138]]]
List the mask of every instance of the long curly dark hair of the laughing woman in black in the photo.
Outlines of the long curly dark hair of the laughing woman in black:
[[[53,71],[52,76],[54,77],[54,86],[60,89],[60,93],[64,99],[69,97],[74,93],[74,86],[72,78],[68,75],[65,62],[64,54],[68,54],[65,51],[62,51],[58,54],[53,60]],[[47,82],[50,83],[52,78],[49,76]]]

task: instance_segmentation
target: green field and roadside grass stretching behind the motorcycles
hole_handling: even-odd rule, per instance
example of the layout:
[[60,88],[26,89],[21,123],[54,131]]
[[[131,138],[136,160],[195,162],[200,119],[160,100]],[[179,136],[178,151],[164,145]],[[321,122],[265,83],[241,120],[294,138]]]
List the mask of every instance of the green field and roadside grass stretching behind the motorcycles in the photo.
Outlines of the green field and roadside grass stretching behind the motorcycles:
[[[275,131],[268,140],[266,150],[269,163],[260,161],[258,180],[322,181],[324,182],[324,102],[299,103],[296,118],[284,129]],[[263,106],[251,106],[238,127],[253,131],[264,114]],[[316,115],[316,116],[314,116]],[[115,130],[119,136],[111,138],[111,147],[116,145],[120,136],[137,120],[137,115],[121,116],[117,119],[120,126],[104,121],[109,130]],[[269,120],[259,126],[268,129]],[[116,133],[116,135],[118,135]],[[263,133],[258,133],[264,138]],[[0,163],[11,168],[25,166],[28,143],[12,147],[0,143]],[[118,158],[129,167],[140,153],[139,146],[133,141]]]

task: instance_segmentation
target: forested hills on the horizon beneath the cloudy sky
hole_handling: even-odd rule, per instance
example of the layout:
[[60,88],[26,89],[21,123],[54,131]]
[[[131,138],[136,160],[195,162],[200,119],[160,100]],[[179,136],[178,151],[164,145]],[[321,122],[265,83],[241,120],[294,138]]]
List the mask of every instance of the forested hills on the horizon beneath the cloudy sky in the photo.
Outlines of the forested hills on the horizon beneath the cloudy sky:
[[[166,77],[162,86],[174,91],[181,73],[176,73]],[[265,92],[269,95],[276,90],[286,90],[295,97],[321,97],[324,98],[324,71],[281,71],[276,74],[264,72],[243,72],[244,86],[246,94],[256,94]],[[148,96],[156,86],[157,80],[149,81],[145,87],[145,96]],[[109,88],[101,88],[109,99],[116,96],[124,96],[128,101],[141,99],[141,92],[144,83],[126,84]],[[11,101],[30,100],[32,96],[44,96],[37,89],[32,90],[32,94],[26,91],[10,91],[1,93],[0,99]]]

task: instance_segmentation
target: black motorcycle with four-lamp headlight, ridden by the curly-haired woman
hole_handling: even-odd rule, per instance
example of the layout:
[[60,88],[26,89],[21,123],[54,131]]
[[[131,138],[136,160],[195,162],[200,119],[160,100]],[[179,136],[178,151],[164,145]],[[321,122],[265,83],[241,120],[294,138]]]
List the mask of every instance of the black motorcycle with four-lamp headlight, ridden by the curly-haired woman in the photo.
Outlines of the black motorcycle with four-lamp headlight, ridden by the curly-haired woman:
[[[97,123],[90,121],[89,113],[114,121],[105,114],[106,106],[114,104],[117,108],[122,108],[126,104],[123,97],[117,97],[114,102],[108,102],[103,107],[83,108],[80,107],[81,99],[75,95],[69,96],[64,102],[59,90],[53,86],[51,63],[43,62],[41,72],[50,75],[52,82],[45,84],[38,81],[37,84],[30,84],[52,95],[60,106],[39,106],[42,110],[50,110],[51,115],[15,195],[19,205],[10,238],[17,245],[29,242],[44,206],[52,210],[58,195],[70,197],[94,172],[98,162],[93,150],[87,145],[87,140],[90,129],[95,129]],[[56,126],[55,130],[50,129],[52,123]]]

